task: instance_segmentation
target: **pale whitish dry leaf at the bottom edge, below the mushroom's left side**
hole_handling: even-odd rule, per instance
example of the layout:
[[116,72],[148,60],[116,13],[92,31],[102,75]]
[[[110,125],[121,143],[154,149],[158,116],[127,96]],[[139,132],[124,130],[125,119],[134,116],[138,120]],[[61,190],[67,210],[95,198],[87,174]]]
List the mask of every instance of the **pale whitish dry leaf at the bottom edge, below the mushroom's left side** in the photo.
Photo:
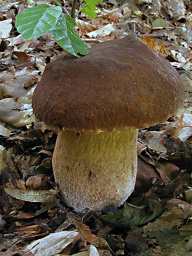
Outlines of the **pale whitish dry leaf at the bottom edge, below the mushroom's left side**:
[[53,233],[29,244],[25,248],[24,252],[31,256],[55,255],[71,244],[78,234],[79,233],[77,231]]

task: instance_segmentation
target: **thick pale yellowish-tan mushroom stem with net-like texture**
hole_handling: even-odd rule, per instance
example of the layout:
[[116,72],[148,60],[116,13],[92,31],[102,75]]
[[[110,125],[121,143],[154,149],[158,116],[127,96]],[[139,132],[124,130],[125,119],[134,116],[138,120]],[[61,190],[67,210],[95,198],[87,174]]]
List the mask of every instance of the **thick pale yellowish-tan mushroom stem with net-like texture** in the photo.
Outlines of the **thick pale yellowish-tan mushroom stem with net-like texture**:
[[53,172],[64,201],[76,212],[113,212],[132,193],[137,129],[82,134],[59,132]]

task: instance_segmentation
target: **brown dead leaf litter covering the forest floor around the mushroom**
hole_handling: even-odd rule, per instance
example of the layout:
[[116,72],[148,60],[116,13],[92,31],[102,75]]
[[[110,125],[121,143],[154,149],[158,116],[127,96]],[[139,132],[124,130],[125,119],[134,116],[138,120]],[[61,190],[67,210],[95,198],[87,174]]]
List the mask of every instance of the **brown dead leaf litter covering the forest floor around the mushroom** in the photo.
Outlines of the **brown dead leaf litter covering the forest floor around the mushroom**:
[[[75,32],[89,45],[136,33],[185,87],[178,113],[139,132],[135,192],[106,216],[56,203],[57,134],[36,122],[31,99],[46,64],[66,52],[49,32],[27,41],[16,30],[16,15],[36,4],[53,2],[0,1],[0,255],[192,255],[191,2],[104,0],[95,19],[76,17]],[[71,2],[61,4],[70,13]]]

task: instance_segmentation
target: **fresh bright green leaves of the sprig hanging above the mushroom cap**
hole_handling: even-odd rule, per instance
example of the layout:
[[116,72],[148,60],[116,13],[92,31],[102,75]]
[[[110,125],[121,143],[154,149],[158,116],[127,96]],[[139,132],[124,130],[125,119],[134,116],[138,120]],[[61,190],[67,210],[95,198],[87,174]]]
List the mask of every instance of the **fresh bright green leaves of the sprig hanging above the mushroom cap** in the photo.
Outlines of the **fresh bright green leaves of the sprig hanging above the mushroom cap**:
[[[28,8],[16,17],[16,28],[19,33],[26,39],[33,39],[50,31],[53,39],[63,49],[79,57],[77,53],[87,54],[88,46],[74,32],[76,22],[68,14],[62,13],[60,4],[53,0],[57,6],[48,4],[40,4],[35,7]],[[97,0],[84,0],[87,6],[82,11],[89,16],[95,18]]]

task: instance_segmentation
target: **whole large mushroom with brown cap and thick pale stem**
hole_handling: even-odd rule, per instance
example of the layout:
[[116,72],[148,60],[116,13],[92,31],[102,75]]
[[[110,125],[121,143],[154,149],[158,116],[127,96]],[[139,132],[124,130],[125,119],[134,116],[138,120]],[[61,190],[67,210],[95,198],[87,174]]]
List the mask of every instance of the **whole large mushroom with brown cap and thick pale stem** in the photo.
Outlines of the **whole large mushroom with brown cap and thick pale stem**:
[[135,35],[47,64],[32,106],[59,132],[53,172],[67,205],[109,213],[123,204],[135,185],[138,129],[175,114],[183,92],[178,72]]

